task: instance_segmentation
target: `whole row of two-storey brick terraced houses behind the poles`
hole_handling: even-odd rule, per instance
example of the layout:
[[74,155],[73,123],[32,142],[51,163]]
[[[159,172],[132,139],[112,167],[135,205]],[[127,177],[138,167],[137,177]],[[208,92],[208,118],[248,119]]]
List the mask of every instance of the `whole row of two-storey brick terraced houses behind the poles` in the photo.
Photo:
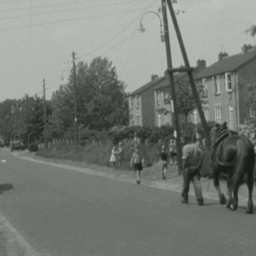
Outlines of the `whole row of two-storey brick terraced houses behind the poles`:
[[[230,129],[237,130],[247,118],[254,117],[254,110],[248,103],[250,92],[247,86],[256,82],[254,46],[244,45],[240,53],[232,56],[221,52],[218,61],[208,67],[205,60],[199,59],[194,67],[194,80],[202,84],[205,92],[202,110],[206,121],[226,121]],[[150,82],[129,94],[130,126],[172,125],[170,103],[166,100],[168,86],[166,73],[160,78],[152,75]],[[180,115],[180,122],[184,122],[183,119]],[[201,122],[197,109],[190,114],[188,121]]]

